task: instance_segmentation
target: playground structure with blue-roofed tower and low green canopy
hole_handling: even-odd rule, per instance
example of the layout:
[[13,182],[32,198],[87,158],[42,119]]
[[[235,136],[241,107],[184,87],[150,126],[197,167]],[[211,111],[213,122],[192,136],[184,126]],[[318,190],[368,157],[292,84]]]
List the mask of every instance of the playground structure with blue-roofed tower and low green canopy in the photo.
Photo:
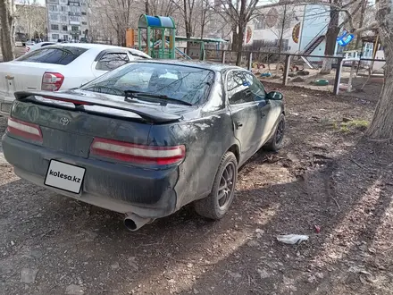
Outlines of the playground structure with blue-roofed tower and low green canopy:
[[[190,60],[195,57],[205,60],[205,43],[215,44],[218,54],[220,45],[227,42],[221,38],[186,38],[176,36],[176,24],[170,16],[152,16],[147,14],[142,14],[139,17],[137,41],[136,37],[134,29],[127,30],[127,46],[138,48],[156,59],[180,58]],[[193,57],[186,55],[186,53],[176,47],[176,42],[190,43],[189,48]],[[197,53],[195,52],[196,46],[198,47]]]

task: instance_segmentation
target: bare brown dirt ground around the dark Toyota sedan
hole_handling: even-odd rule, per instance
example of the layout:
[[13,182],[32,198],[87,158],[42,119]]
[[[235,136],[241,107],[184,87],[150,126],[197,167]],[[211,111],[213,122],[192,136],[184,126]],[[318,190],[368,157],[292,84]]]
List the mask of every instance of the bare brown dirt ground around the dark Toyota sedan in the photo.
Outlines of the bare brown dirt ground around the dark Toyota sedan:
[[188,206],[128,232],[0,163],[0,294],[393,294],[393,148],[363,139],[375,102],[281,90],[285,147],[242,168],[220,222]]

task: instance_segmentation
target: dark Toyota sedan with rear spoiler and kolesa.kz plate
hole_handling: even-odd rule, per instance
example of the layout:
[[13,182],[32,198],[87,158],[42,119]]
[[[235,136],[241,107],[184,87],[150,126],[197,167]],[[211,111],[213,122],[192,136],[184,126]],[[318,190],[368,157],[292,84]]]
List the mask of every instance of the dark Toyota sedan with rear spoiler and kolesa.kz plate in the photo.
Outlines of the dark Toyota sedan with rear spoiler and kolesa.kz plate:
[[120,212],[132,231],[192,202],[222,218],[238,167],[285,131],[282,94],[225,64],[131,62],[79,89],[15,96],[3,138],[14,173]]

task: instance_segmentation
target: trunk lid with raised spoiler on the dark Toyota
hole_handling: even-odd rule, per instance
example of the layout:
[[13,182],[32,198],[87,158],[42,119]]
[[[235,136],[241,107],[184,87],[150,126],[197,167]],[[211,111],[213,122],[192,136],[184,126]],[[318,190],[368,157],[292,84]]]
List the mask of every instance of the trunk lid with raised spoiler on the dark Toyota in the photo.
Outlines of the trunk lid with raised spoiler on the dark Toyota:
[[12,118],[38,125],[42,146],[72,156],[88,157],[96,138],[146,145],[152,124],[180,120],[142,104],[63,92],[16,92],[15,97]]

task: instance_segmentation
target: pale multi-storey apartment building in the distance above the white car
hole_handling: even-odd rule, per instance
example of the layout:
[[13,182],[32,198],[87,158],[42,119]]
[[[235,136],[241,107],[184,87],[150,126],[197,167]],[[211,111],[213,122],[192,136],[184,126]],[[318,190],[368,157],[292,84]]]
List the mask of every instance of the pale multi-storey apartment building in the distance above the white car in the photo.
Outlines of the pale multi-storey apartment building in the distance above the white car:
[[88,38],[88,0],[46,0],[48,41]]

